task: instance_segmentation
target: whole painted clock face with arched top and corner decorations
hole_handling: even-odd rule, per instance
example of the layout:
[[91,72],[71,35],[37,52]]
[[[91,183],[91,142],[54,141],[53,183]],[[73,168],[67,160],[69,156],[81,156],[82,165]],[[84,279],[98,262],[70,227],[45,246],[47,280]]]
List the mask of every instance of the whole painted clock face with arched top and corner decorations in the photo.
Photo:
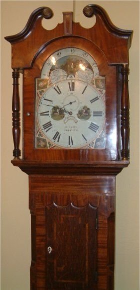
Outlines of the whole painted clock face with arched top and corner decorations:
[[64,48],[36,79],[36,148],[105,148],[105,78],[79,48]]

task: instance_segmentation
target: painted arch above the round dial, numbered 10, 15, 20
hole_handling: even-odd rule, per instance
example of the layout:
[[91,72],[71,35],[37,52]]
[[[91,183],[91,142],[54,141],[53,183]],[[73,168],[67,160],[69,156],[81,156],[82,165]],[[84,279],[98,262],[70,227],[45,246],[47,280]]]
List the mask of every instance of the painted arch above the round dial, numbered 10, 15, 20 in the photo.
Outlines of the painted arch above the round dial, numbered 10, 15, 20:
[[[55,72],[56,69],[60,70]],[[94,58],[83,49],[76,47],[59,49],[50,55],[42,67],[41,78],[52,78],[53,71],[57,81],[62,79],[64,71],[69,78],[76,75],[80,76],[80,79],[81,77],[85,79],[85,76],[87,79],[99,76],[98,66]],[[59,73],[60,79],[58,79]]]

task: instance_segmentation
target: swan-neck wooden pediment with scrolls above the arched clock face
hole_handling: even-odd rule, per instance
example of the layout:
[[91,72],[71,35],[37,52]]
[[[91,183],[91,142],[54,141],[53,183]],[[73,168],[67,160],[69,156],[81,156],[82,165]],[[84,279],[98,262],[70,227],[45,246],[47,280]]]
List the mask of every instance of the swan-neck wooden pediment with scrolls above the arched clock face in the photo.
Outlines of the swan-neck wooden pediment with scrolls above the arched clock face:
[[[21,32],[5,37],[12,45],[12,68],[30,67],[41,47],[55,38],[69,38],[70,35],[66,35],[65,32],[65,25],[72,25],[71,36],[86,38],[100,47],[109,64],[128,63],[128,48],[131,46],[133,31],[116,27],[99,5],[87,5],[83,12],[87,17],[96,15],[96,23],[93,27],[84,28],[78,22],[70,23],[71,20],[66,24],[64,18],[64,22],[58,23],[54,29],[46,30],[42,26],[42,18],[51,18],[52,10],[48,7],[35,9]],[[24,53],[21,54],[21,51]]]

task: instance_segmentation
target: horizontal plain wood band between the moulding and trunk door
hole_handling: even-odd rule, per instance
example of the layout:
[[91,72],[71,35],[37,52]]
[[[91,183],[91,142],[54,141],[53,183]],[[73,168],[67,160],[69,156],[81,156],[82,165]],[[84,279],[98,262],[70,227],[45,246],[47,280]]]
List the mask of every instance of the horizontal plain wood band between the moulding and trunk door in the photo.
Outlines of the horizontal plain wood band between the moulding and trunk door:
[[[49,181],[49,182],[48,182]],[[85,175],[32,175],[29,177],[29,192],[51,191],[65,192],[74,191],[77,194],[81,192],[112,193],[115,194],[114,176],[85,176]],[[93,187],[94,182],[94,187]],[[52,200],[50,203],[52,203]],[[81,205],[82,206],[82,205]]]

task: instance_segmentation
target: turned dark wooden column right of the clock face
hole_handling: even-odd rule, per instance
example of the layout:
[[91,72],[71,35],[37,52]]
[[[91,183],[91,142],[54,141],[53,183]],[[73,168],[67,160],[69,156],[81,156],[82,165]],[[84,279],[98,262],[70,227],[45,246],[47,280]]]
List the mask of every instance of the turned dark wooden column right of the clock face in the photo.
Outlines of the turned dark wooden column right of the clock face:
[[129,136],[130,136],[130,123],[129,123],[129,88],[128,88],[128,75],[129,67],[128,64],[123,64],[121,68],[123,76],[122,80],[122,98],[121,98],[121,136],[122,136],[122,160],[129,159]]

